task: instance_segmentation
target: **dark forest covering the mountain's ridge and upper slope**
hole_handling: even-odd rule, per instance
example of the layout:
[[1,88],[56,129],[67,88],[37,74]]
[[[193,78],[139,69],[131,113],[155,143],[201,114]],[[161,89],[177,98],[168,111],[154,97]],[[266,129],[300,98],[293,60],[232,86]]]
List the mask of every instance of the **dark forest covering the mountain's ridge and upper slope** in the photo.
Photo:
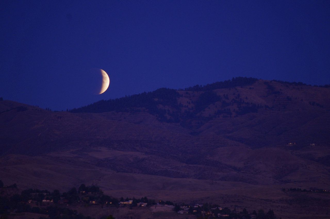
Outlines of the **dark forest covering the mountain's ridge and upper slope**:
[[[71,109],[70,112],[107,112],[107,111],[120,111],[120,112],[139,112],[146,110],[152,115],[155,115],[161,122],[180,123],[186,128],[195,128],[201,126],[205,122],[214,117],[231,117],[234,113],[235,116],[244,115],[246,113],[258,112],[259,106],[250,104],[242,100],[238,94],[233,100],[229,101],[228,94],[218,96],[213,90],[219,88],[231,88],[236,86],[251,85],[258,79],[237,77],[232,80],[216,82],[208,85],[195,85],[182,90],[186,91],[202,91],[199,98],[194,101],[194,108],[188,108],[179,104],[177,99],[182,96],[174,89],[160,88],[152,92],[144,92],[141,94],[125,96],[118,99],[101,100],[93,104],[78,108]],[[270,85],[269,82],[265,82],[271,93],[278,91]],[[206,109],[210,104],[215,104],[222,100],[221,109],[215,110],[214,114],[209,113],[209,116],[199,115],[201,111]],[[228,102],[227,102],[228,100]],[[190,104],[190,103],[189,103]],[[238,111],[231,111],[228,106],[237,104]],[[159,107],[160,105],[166,106],[166,108]],[[245,106],[241,106],[245,105]],[[181,108],[186,107],[188,109],[182,111]]]

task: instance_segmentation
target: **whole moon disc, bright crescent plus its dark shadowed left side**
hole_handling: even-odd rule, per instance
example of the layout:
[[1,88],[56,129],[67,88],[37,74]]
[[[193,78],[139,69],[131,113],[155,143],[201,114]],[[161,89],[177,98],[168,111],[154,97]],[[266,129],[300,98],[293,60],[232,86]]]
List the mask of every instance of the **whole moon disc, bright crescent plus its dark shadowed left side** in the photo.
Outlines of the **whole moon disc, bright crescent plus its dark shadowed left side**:
[[102,94],[104,93],[110,84],[108,74],[99,68],[89,69],[85,75],[85,85],[83,92],[89,94]]

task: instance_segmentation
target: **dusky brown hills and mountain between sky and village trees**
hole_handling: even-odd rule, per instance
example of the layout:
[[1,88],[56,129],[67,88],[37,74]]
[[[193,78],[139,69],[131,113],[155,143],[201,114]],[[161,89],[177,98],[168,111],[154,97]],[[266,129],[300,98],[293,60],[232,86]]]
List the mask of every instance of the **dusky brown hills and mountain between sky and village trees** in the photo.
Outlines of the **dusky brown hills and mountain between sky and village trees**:
[[330,189],[329,122],[330,88],[246,78],[69,112],[3,100],[0,179],[329,218],[329,193],[288,191]]

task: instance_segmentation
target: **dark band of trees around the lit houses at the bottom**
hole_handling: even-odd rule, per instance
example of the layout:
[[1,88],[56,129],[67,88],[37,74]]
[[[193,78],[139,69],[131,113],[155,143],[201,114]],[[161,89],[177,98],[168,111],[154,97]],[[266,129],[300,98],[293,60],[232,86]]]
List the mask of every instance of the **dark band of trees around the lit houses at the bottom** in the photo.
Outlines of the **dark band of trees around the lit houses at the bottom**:
[[[0,181],[0,186],[3,186],[2,181]],[[294,189],[290,189],[294,190]],[[297,189],[296,189],[297,190]],[[91,217],[85,217],[82,214],[78,214],[76,210],[72,210],[65,207],[59,207],[58,205],[50,205],[47,207],[38,207],[34,206],[31,207],[27,204],[27,201],[32,199],[38,202],[41,202],[43,199],[51,198],[54,203],[57,203],[61,198],[69,200],[69,202],[75,202],[82,198],[82,201],[88,203],[89,200],[97,201],[99,204],[109,204],[113,203],[114,205],[118,205],[118,199],[104,195],[103,192],[100,190],[98,186],[91,185],[85,186],[82,184],[78,190],[76,188],[72,188],[67,192],[60,193],[59,190],[54,190],[53,192],[49,192],[48,190],[39,190],[39,189],[26,189],[21,192],[21,194],[15,194],[10,198],[7,197],[0,197],[0,214],[8,215],[10,210],[15,209],[15,212],[32,212],[32,213],[39,213],[39,214],[47,214],[49,215],[48,218],[70,218],[70,219],[91,219]],[[88,198],[88,199],[86,199]],[[147,197],[142,197],[140,199],[136,198],[120,198],[120,201],[128,201],[133,200],[131,207],[137,206],[138,203],[148,203],[148,205],[155,205],[154,200],[150,200]],[[175,211],[179,211],[182,209],[177,204],[174,204],[170,201],[163,201],[160,200],[158,202],[160,205],[173,205]],[[184,204],[183,204],[184,205]],[[237,212],[236,209],[233,211],[230,210],[228,207],[223,209],[219,209],[218,205],[211,205],[205,203],[202,207],[194,208],[192,205],[188,209],[188,213],[195,214],[197,217],[201,218],[204,214],[211,212],[215,215],[222,214],[222,215],[229,215],[230,218],[250,218],[251,215],[255,215],[257,219],[276,219],[273,210],[269,210],[265,213],[264,210],[260,209],[258,212],[255,210],[252,213],[248,213],[248,211],[244,208],[243,211]],[[213,209],[212,209],[213,208]],[[102,219],[115,219],[112,215],[104,216]]]

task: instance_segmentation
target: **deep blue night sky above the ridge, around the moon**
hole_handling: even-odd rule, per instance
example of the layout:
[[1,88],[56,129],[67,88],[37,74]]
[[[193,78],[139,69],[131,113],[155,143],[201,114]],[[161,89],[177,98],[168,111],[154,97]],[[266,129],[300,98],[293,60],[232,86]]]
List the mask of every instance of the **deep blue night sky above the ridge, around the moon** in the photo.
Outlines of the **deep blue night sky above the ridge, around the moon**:
[[52,110],[237,76],[330,84],[330,1],[9,0],[0,21],[0,96]]

